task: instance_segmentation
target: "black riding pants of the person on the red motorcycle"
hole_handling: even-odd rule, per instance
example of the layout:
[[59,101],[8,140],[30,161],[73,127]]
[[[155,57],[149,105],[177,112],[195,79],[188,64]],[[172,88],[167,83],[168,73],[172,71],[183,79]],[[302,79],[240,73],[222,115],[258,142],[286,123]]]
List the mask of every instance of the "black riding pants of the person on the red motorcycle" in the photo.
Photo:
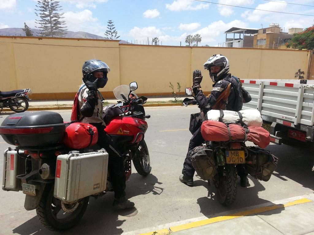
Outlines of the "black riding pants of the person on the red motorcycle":
[[[95,125],[95,123],[93,125]],[[124,197],[126,175],[123,157],[120,157],[110,148],[110,145],[112,146],[113,143],[110,136],[106,134],[104,130],[105,127],[101,125],[97,125],[96,127],[98,131],[97,144],[100,145],[101,148],[106,149],[109,154],[108,170],[110,173],[110,181],[115,192],[115,198]]]

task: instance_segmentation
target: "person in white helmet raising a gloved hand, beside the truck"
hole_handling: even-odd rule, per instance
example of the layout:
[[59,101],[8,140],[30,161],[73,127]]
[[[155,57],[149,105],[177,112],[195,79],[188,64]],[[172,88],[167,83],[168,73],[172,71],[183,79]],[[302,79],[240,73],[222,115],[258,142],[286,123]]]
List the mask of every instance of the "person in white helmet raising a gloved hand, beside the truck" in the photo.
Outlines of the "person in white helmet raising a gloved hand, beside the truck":
[[[251,101],[250,94],[242,87],[240,79],[235,76],[231,76],[229,72],[229,61],[224,55],[213,55],[205,63],[204,68],[209,70],[209,76],[213,80],[214,85],[209,97],[203,94],[202,87],[200,85],[203,76],[200,70],[193,71],[193,85],[192,90],[195,95],[195,99],[198,102],[198,107],[203,112],[207,112],[211,109],[223,109],[231,111],[239,111],[242,109],[243,102],[247,103]],[[201,128],[195,131],[193,134],[187,156],[183,164],[182,174],[179,180],[189,186],[193,185],[193,175],[195,170],[192,166],[189,153],[192,149],[200,146],[204,139],[201,134]],[[240,184],[246,187],[247,172],[243,165],[237,165],[238,175],[240,176]]]

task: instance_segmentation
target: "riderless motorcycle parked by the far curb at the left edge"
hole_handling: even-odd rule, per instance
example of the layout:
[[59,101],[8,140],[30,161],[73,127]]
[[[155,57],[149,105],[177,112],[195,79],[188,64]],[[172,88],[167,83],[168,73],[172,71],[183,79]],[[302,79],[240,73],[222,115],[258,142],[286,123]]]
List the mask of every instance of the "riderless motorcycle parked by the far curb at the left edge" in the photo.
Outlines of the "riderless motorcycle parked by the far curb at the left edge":
[[0,114],[3,108],[10,108],[14,112],[24,112],[28,109],[28,95],[30,88],[14,91],[0,91]]

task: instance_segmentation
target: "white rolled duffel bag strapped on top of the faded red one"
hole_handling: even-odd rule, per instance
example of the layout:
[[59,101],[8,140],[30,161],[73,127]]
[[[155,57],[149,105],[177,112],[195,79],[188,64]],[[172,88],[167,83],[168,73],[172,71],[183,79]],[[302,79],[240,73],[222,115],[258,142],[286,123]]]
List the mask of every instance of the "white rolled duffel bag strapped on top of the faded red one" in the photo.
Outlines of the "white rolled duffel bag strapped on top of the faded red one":
[[239,112],[212,109],[207,112],[205,120],[236,124],[245,123],[247,126],[251,127],[261,127],[263,124],[261,113],[257,109],[245,109]]

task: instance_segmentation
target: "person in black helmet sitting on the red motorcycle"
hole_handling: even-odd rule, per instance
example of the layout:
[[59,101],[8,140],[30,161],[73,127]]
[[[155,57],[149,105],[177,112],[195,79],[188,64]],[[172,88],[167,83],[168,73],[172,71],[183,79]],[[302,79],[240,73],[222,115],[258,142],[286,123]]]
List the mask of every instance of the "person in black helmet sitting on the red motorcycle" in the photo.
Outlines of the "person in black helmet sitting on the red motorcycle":
[[101,148],[106,149],[109,154],[108,169],[113,185],[115,200],[113,206],[118,208],[132,208],[134,203],[125,198],[125,170],[123,158],[114,151],[114,144],[104,128],[106,124],[102,115],[102,100],[99,88],[103,88],[107,81],[107,74],[110,71],[109,66],[97,59],[87,60],[82,67],[83,83],[78,94],[79,120],[84,123],[90,123],[97,128],[98,142]]

